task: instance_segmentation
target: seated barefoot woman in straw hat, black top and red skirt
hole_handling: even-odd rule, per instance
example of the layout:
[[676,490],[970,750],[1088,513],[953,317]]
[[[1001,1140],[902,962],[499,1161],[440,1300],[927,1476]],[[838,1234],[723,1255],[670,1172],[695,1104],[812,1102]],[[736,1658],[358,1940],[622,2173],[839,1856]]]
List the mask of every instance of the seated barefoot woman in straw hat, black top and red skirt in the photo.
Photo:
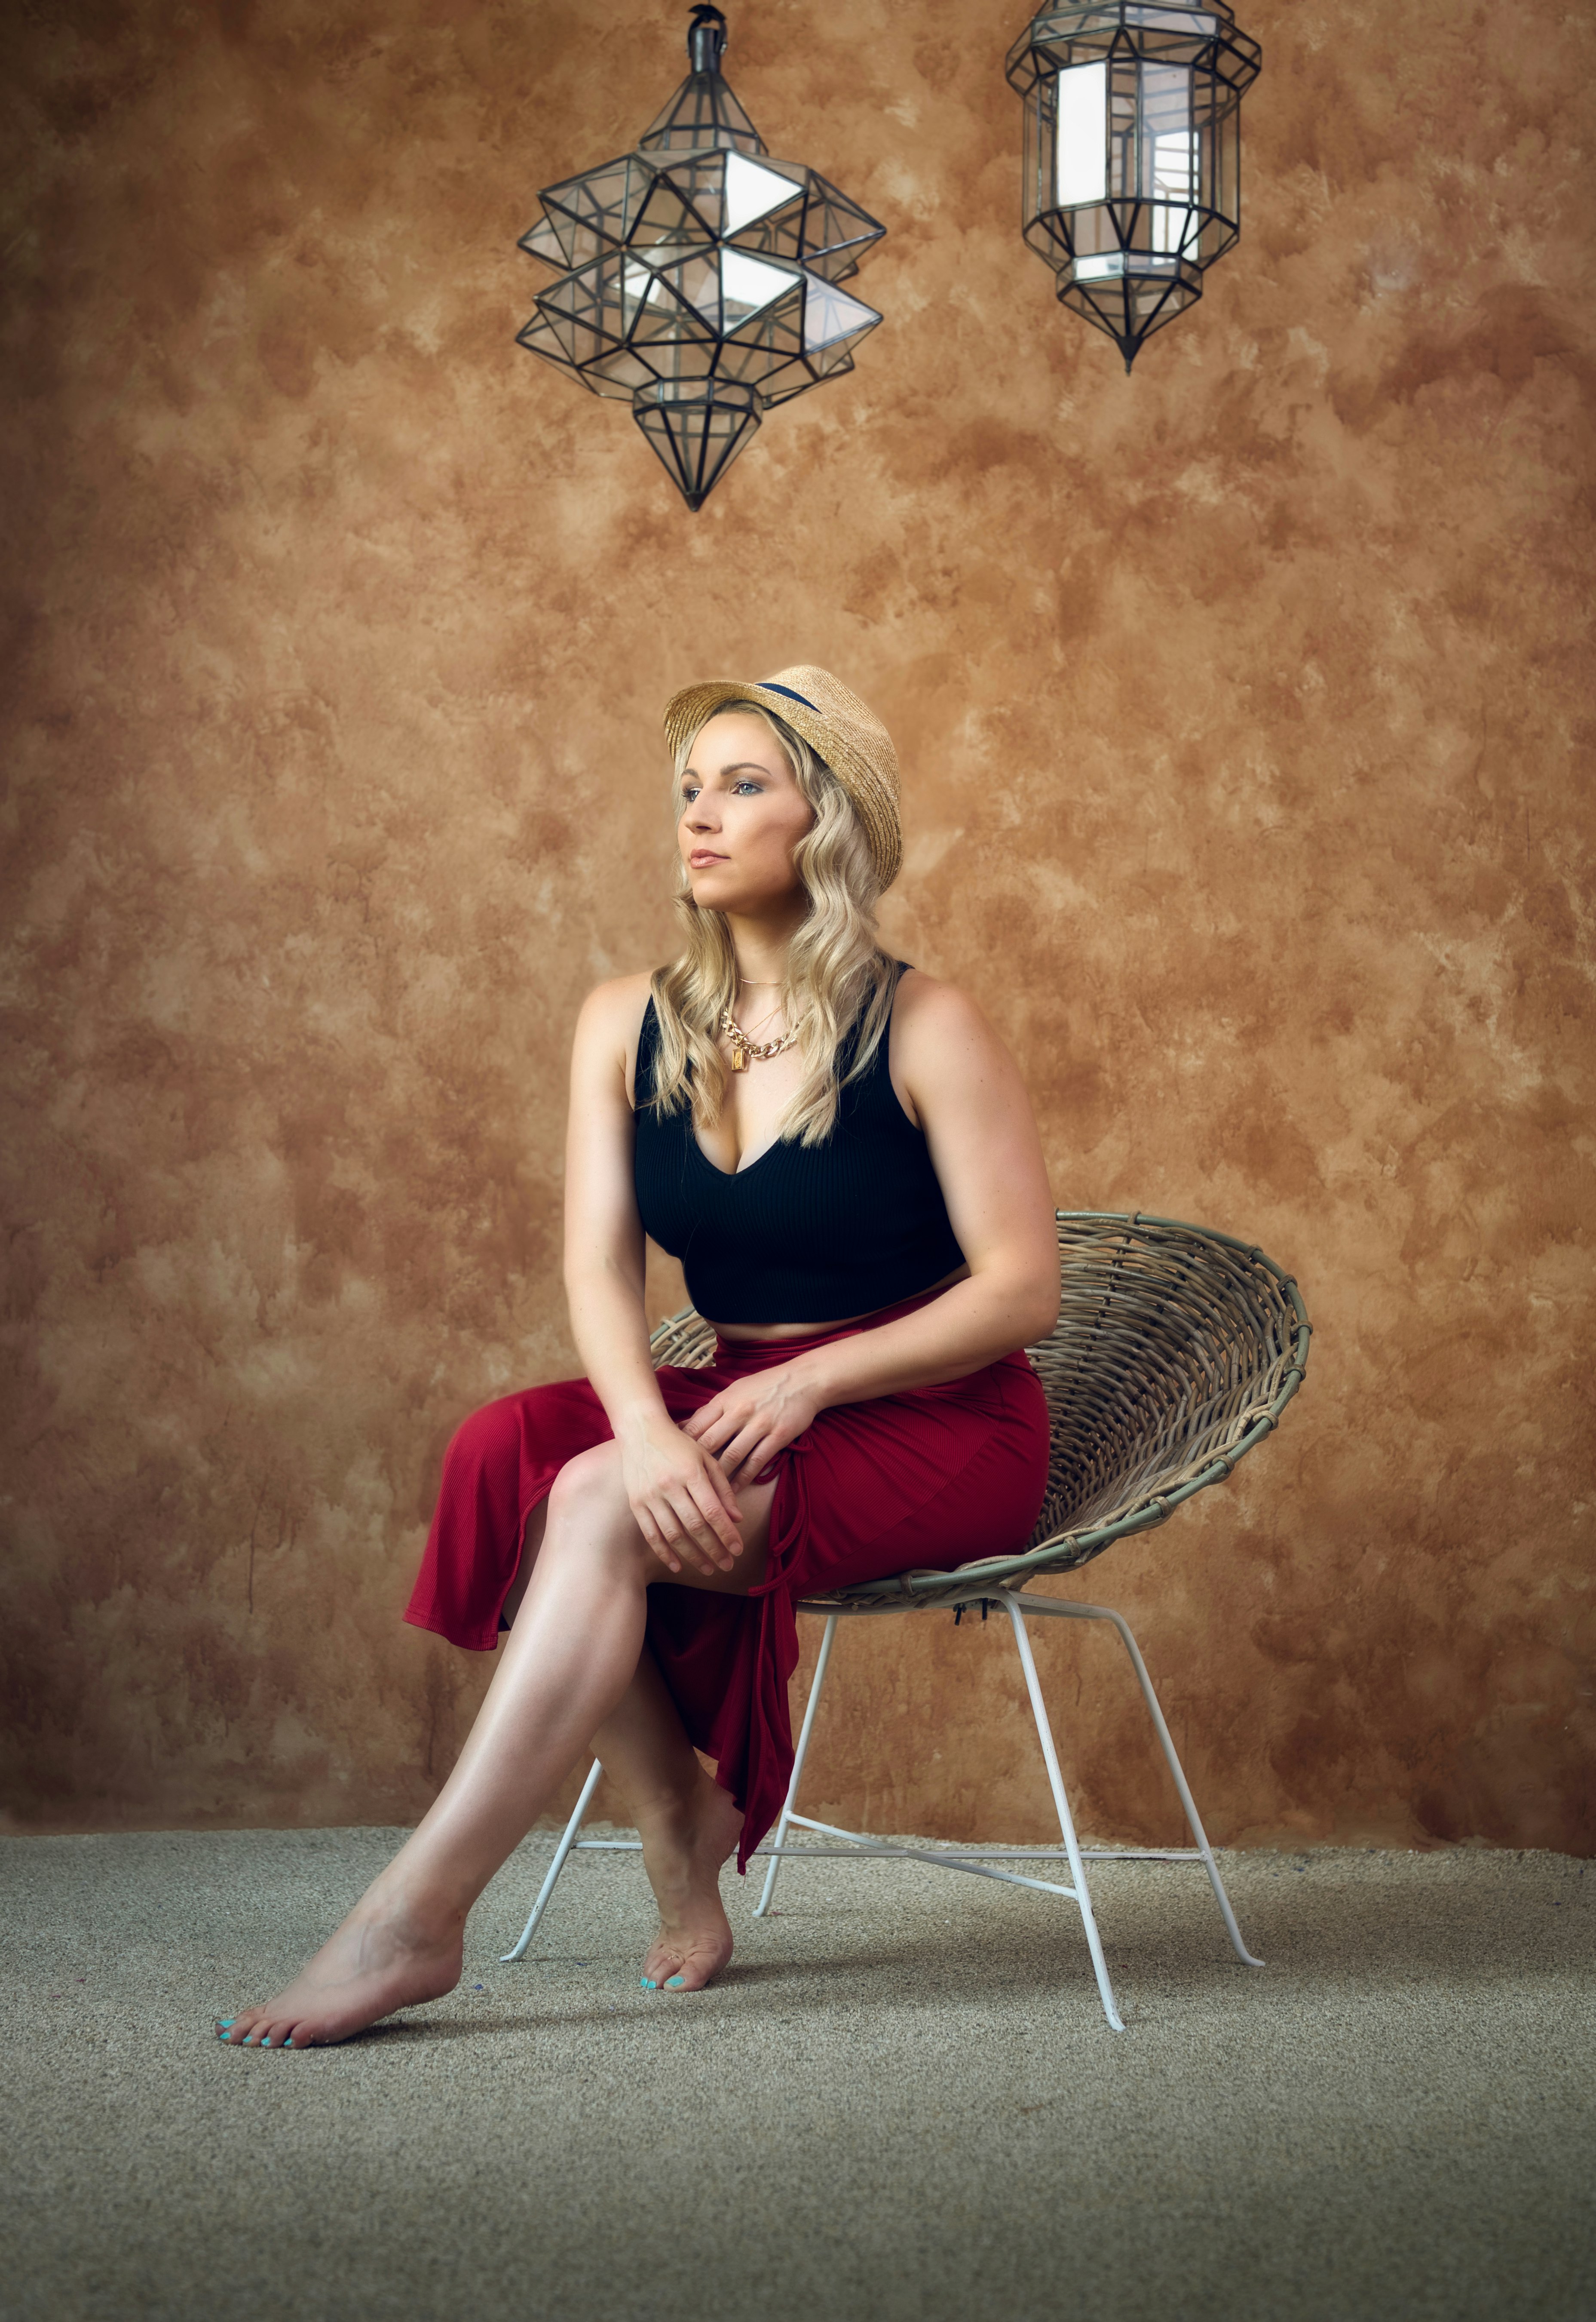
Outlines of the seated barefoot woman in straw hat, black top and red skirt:
[[[793,1598],[1023,1544],[1053,1203],[1030,1105],[960,991],[886,959],[898,762],[824,669],[666,708],[682,959],[601,985],[571,1063],[566,1291],[585,1379],[450,1444],[408,1618],[510,1637],[455,1772],[309,1967],[218,2025],[348,2039],[452,1990],[466,1913],[589,1753],[659,1899],[647,1990],[731,1957],[719,1874],[791,1769]],[[654,1370],[652,1233],[717,1326]],[[710,1779],[696,1751],[717,1760]]]

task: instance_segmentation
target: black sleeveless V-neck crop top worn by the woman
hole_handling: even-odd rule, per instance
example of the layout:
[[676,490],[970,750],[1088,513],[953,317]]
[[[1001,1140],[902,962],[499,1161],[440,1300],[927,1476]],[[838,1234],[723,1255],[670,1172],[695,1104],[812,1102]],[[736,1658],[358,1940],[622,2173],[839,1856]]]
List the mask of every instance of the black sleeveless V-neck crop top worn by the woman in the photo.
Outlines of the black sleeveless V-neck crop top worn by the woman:
[[[636,1087],[638,1214],[643,1231],[682,1261],[687,1293],[710,1321],[872,1314],[965,1263],[926,1133],[898,1103],[888,1033],[891,1024],[868,1068],[844,1082],[824,1145],[777,1142],[728,1175],[698,1145],[689,1105],[661,1115],[652,1103],[659,1022],[647,1003]],[[856,1038],[858,1026],[837,1054],[840,1075]]]

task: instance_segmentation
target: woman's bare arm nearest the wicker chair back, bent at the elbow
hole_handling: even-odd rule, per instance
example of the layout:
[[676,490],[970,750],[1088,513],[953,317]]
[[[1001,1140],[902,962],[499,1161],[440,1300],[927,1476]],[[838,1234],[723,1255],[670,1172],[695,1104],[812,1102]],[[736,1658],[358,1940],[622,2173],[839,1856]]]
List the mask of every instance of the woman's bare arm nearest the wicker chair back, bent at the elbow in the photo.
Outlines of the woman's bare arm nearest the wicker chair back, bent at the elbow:
[[687,1421],[728,1474],[752,1474],[833,1402],[940,1386],[1058,1321],[1058,1233],[1042,1140],[1007,1047],[963,991],[902,982],[893,1077],[909,1098],[970,1277],[930,1305],[740,1379]]

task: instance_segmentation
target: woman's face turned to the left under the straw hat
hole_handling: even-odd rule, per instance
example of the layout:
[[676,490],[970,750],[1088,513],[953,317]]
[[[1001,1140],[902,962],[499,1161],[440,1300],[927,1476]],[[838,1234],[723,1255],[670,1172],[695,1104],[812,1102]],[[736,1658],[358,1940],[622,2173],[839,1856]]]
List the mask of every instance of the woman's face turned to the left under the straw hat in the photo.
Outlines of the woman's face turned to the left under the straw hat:
[[803,894],[793,848],[812,822],[766,720],[740,711],[710,717],[682,773],[677,822],[694,903],[759,915]]

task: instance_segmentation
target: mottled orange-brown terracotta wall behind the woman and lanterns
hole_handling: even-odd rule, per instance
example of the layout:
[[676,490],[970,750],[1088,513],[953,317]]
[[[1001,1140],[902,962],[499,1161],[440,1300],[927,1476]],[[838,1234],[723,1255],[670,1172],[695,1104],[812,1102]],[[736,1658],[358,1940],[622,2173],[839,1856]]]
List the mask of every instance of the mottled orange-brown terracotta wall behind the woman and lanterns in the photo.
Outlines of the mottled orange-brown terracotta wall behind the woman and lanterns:
[[[735,7],[888,320],[698,518],[513,346],[536,188],[682,21],[12,12],[16,1825],[427,1802],[485,1663],[399,1605],[455,1421],[571,1363],[659,701],[821,659],[909,771],[891,940],[1014,1040],[1058,1200],[1304,1282],[1281,1437],[1076,1584],[1211,1825],[1589,1848],[1589,21],[1246,0],[1246,232],[1127,381],[1018,244],[1018,7]],[[1167,1832],[1109,1644],[1042,1653],[1083,1820]],[[991,1628],[842,1672],[824,1807],[1046,1830]]]

